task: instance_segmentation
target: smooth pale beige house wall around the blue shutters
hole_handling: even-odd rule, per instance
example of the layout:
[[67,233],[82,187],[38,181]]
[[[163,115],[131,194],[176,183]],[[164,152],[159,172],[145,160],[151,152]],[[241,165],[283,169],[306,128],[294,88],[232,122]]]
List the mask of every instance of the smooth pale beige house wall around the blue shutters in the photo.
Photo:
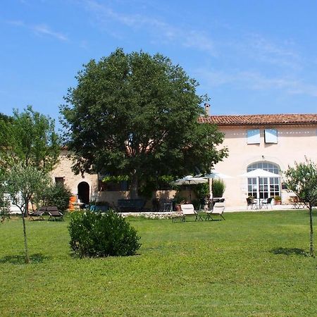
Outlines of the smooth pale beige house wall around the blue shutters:
[[[282,171],[294,161],[308,159],[317,161],[317,125],[315,126],[269,126],[260,127],[260,144],[247,144],[247,130],[259,127],[221,128],[225,133],[224,145],[229,149],[229,156],[214,168],[219,173],[232,176],[225,179],[225,200],[228,206],[244,206],[247,198],[247,178],[240,177],[247,172],[247,166],[259,161],[278,164]],[[278,144],[264,142],[264,128],[278,130]],[[286,190],[282,191],[282,201],[287,200]]]

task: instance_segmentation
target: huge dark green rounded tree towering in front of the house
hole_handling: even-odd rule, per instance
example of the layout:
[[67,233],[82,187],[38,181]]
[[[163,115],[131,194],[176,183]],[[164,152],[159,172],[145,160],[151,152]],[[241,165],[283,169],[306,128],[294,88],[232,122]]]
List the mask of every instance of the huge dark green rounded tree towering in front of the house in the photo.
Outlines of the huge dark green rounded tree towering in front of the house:
[[216,126],[197,123],[198,83],[170,59],[117,49],[76,78],[61,106],[75,172],[128,175],[134,197],[149,178],[204,173],[227,155]]

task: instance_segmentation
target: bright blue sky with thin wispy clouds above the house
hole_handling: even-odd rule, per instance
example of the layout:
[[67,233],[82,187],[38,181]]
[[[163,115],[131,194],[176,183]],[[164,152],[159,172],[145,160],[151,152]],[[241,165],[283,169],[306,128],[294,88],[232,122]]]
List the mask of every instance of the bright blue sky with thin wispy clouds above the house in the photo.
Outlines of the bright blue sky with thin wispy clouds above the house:
[[168,56],[213,114],[316,113],[317,1],[3,0],[0,112],[58,106],[91,58]]

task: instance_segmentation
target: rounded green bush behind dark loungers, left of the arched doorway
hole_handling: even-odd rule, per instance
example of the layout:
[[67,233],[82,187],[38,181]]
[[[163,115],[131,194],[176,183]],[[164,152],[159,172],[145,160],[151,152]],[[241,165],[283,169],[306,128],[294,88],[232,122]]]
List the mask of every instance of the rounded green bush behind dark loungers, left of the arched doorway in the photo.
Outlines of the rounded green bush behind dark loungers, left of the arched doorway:
[[66,211],[72,192],[66,185],[54,184],[49,186],[42,197],[44,206],[56,206],[59,211]]

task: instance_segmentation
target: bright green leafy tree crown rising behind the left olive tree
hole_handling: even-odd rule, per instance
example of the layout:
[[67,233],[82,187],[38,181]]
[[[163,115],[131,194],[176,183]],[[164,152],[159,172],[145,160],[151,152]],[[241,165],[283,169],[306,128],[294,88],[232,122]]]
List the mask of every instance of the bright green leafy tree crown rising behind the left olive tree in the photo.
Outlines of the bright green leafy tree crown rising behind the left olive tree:
[[23,113],[13,111],[10,120],[0,119],[0,168],[16,163],[49,172],[58,161],[60,141],[54,120],[28,106]]

